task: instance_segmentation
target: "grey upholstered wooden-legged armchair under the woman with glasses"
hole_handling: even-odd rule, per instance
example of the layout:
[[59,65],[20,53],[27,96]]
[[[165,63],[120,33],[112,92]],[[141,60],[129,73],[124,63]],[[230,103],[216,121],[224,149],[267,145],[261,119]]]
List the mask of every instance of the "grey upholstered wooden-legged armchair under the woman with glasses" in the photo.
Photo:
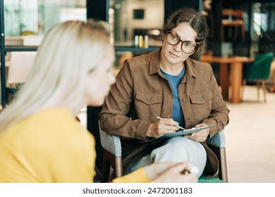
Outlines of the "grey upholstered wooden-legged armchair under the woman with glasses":
[[[119,136],[107,134],[99,127],[100,141],[104,148],[104,156],[102,162],[102,177],[101,182],[108,182],[110,167],[114,169],[116,177],[123,175],[122,157],[121,157],[121,139]],[[226,149],[225,136],[221,131],[214,135],[212,139],[207,140],[209,148],[216,154],[219,159],[219,179],[228,182],[227,167],[226,167]]]

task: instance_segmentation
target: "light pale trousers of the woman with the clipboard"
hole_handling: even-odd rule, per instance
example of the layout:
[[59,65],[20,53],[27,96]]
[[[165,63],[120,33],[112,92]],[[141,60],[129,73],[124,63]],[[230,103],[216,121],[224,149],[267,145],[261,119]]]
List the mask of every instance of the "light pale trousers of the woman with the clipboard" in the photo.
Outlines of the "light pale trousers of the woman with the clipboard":
[[198,177],[202,175],[207,162],[207,153],[197,141],[193,141],[183,136],[176,136],[164,141],[164,144],[152,151],[151,154],[138,160],[129,167],[126,174],[137,170],[140,167],[159,162],[183,162],[188,161],[198,167]]

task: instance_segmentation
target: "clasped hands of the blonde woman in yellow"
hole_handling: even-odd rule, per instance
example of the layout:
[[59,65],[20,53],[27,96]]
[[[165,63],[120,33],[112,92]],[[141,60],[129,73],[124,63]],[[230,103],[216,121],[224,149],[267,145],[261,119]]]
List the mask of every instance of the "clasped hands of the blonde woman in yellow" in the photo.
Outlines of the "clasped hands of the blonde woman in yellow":
[[153,163],[144,170],[152,182],[158,183],[196,183],[197,167],[190,163]]

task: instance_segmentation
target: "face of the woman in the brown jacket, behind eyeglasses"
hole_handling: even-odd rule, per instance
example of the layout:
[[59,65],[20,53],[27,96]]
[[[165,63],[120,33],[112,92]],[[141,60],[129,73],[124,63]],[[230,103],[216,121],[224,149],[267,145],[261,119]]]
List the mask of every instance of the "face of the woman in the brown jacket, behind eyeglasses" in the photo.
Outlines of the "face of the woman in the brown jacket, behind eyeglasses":
[[[190,44],[196,46],[195,39],[197,37],[197,32],[188,23],[180,23],[177,27],[174,27],[169,32],[175,34],[181,41],[187,41]],[[194,53],[185,53],[181,46],[183,42],[179,42],[175,46],[166,42],[166,37],[164,37],[164,42],[162,45],[161,53],[165,58],[165,61],[171,65],[178,65],[183,63],[190,55]]]

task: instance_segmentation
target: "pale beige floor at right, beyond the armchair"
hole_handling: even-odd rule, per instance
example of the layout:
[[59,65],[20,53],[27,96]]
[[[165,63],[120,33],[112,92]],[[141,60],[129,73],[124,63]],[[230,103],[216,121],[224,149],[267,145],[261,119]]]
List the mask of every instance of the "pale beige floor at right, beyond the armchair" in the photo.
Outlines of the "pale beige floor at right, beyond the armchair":
[[275,93],[245,87],[243,102],[228,103],[230,122],[224,129],[228,182],[275,183]]

